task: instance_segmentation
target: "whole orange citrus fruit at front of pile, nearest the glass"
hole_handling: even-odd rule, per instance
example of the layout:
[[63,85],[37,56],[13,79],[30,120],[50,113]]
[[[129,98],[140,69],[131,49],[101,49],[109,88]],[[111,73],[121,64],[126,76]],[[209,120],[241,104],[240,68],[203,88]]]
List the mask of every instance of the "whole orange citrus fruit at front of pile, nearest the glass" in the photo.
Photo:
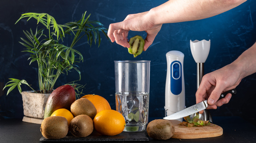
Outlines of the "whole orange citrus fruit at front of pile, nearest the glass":
[[116,110],[100,111],[93,119],[95,130],[101,135],[120,134],[125,127],[125,120]]

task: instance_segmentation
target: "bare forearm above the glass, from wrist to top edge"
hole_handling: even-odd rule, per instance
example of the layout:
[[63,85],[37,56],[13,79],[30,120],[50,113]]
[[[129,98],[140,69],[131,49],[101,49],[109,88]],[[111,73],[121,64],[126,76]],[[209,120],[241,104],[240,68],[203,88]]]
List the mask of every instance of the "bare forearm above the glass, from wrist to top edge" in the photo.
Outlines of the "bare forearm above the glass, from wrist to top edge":
[[169,0],[152,8],[152,23],[165,24],[209,18],[239,6],[246,0]]

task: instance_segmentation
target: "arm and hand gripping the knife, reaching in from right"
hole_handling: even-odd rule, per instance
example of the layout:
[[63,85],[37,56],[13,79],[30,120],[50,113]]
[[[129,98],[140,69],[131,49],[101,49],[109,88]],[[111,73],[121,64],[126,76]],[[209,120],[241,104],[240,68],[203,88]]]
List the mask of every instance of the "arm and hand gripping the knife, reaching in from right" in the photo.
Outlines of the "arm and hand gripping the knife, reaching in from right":
[[[227,94],[225,98],[218,101],[221,93],[237,87],[244,77],[256,72],[255,55],[256,43],[231,64],[205,74],[196,92],[196,103],[202,102],[207,97],[209,104],[207,109],[216,109],[217,106],[228,103],[231,94]],[[200,113],[203,113],[203,111]]]

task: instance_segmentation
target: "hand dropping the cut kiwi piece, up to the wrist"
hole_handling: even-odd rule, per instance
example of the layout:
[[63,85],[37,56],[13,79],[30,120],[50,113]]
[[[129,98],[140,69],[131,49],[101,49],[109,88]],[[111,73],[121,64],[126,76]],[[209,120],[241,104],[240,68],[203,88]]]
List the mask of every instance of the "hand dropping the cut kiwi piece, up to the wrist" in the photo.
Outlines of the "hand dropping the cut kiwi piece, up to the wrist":
[[153,43],[162,26],[162,24],[153,24],[153,20],[151,20],[152,18],[153,17],[148,15],[148,11],[130,14],[124,21],[109,25],[108,37],[112,42],[116,41],[117,44],[129,48],[130,44],[128,43],[127,38],[129,31],[145,31],[147,32],[147,37],[145,39],[143,51],[146,51]]

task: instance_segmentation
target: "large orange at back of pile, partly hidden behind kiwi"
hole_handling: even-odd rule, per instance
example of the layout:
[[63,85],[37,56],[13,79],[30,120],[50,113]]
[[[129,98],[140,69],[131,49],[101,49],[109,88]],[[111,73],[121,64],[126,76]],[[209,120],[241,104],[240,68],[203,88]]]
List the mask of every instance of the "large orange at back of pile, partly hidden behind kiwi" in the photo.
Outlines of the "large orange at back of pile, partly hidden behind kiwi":
[[102,110],[110,110],[111,109],[108,101],[102,96],[95,95],[95,94],[88,94],[81,98],[86,98],[86,99],[90,100],[94,104],[94,106],[97,110],[97,113],[99,113]]

